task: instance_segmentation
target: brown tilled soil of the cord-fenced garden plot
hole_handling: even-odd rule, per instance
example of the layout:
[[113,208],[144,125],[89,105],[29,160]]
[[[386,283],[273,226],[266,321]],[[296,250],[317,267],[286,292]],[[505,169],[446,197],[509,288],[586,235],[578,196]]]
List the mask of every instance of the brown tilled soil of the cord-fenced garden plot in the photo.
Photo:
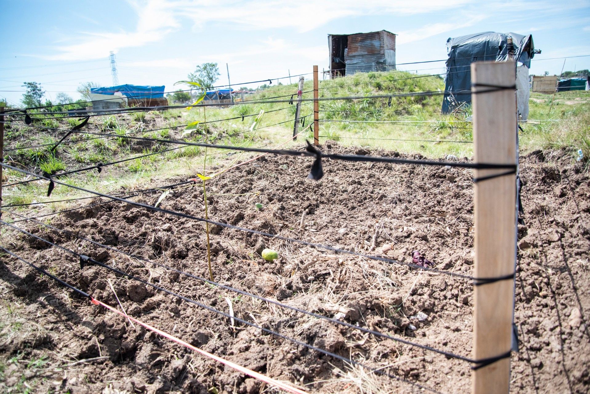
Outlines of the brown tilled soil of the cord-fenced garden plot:
[[[322,149],[419,158],[334,143]],[[215,281],[470,357],[473,288],[457,274],[471,275],[473,265],[471,170],[324,160],[324,178],[314,181],[306,179],[311,164],[309,158],[268,156],[208,180],[209,218],[401,264],[212,226]],[[520,352],[512,357],[511,388],[522,393],[585,393],[590,383],[590,178],[581,165],[559,152],[521,157],[520,174],[525,225],[519,226],[514,317]],[[153,204],[160,194],[134,201]],[[160,206],[203,217],[202,188],[195,185],[170,193]],[[8,218],[19,219],[5,213],[4,220]],[[351,367],[256,327],[232,323],[107,268],[81,269],[76,256],[27,235],[3,236],[4,247],[98,300],[112,306],[120,303],[130,316],[310,392],[422,392],[412,383],[444,393],[470,390],[470,365],[462,360],[316,319],[163,268],[209,276],[203,222],[122,202],[51,219],[53,226],[142,255],[160,266],[97,247],[75,234],[32,222],[17,225],[224,313],[230,313],[231,304],[235,317],[401,379],[371,374],[369,369]],[[260,252],[267,247],[277,250],[280,258],[263,260]],[[405,266],[414,250],[441,272]],[[32,392],[269,390],[257,380],[93,306],[15,258],[2,255],[2,262],[5,323],[0,333],[4,365],[0,380],[6,391],[24,390],[22,382]],[[71,365],[77,360],[85,361]]]

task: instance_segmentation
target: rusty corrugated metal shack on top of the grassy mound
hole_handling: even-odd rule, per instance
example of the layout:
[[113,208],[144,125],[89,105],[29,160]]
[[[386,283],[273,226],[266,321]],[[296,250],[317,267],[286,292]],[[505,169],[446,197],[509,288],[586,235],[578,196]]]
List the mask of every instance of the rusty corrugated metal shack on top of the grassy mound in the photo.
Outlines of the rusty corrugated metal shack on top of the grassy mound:
[[328,34],[330,78],[369,71],[395,70],[395,34],[381,30]]

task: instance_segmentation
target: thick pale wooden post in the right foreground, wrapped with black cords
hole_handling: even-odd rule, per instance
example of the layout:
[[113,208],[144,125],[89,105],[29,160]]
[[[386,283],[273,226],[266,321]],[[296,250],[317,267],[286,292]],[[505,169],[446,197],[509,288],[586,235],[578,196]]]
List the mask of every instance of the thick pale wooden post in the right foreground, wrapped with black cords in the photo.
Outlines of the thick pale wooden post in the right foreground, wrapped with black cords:
[[[471,64],[471,81],[475,86],[471,100],[476,163],[517,163],[516,92],[514,89],[494,90],[489,87],[514,86],[515,70],[513,61]],[[482,90],[490,92],[477,93]],[[506,169],[476,170],[476,178],[502,172],[506,172]],[[514,272],[515,178],[515,175],[505,175],[475,184],[476,278],[496,278]],[[474,359],[481,360],[509,352],[512,344],[513,288],[513,279],[474,287]],[[501,359],[474,370],[472,376],[474,394],[508,393],[510,359]]]

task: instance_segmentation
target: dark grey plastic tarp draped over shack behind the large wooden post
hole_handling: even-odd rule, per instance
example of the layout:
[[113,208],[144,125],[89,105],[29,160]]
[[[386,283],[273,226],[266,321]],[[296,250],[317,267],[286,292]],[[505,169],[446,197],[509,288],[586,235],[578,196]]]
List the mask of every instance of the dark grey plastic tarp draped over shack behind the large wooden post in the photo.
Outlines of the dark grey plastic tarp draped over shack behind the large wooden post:
[[[447,77],[442,111],[453,111],[461,104],[471,104],[471,63],[508,60],[508,38],[512,37],[514,59],[530,68],[533,58],[532,35],[491,31],[463,35],[447,40]],[[514,70],[516,77],[516,70]],[[460,91],[465,90],[465,93]]]

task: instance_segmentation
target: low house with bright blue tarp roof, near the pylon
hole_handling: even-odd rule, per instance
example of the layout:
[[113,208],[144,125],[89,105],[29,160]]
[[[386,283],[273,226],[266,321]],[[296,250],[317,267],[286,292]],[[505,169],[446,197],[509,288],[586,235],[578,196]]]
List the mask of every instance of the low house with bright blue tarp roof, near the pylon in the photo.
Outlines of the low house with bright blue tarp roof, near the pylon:
[[90,89],[92,109],[112,110],[125,107],[158,107],[168,105],[165,86],[119,85]]

